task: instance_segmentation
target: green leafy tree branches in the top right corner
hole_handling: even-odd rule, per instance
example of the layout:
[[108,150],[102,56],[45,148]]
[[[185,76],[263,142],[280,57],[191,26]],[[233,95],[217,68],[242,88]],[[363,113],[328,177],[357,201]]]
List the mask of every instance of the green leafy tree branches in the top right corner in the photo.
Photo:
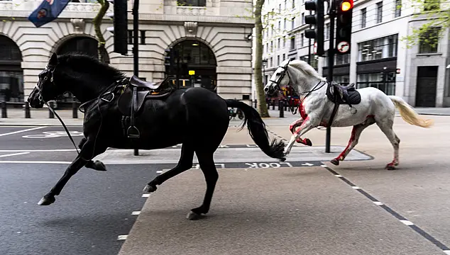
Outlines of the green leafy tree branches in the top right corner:
[[450,26],[450,8],[442,10],[440,0],[411,0],[411,6],[397,4],[397,9],[409,7],[415,10],[413,18],[427,19],[427,23],[412,28],[412,33],[400,38],[407,48],[411,48],[419,42],[427,47],[435,47],[442,38],[446,28]]

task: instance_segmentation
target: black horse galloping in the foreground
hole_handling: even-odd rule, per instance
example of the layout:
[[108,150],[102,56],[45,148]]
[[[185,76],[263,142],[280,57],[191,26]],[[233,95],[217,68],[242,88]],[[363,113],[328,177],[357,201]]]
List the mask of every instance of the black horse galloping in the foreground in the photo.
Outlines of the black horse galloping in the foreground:
[[[285,144],[275,139],[269,143],[265,123],[258,112],[246,103],[224,100],[207,89],[190,88],[173,89],[165,96],[160,95],[160,98],[158,95],[147,95],[145,100],[141,97],[142,106],[139,108],[139,102],[134,101],[139,98],[138,94],[129,91],[133,88],[131,81],[136,81],[135,78],[127,79],[119,70],[87,55],[69,53],[57,57],[53,53],[48,66],[39,74],[38,84],[31,91],[28,102],[33,108],[42,108],[44,103],[70,91],[82,103],[80,107],[84,108],[84,138],[79,144],[78,156],[50,192],[43,196],[39,205],[54,203],[55,196],[60,194],[70,177],[82,166],[105,171],[103,163],[92,162],[92,159],[105,152],[108,147],[160,149],[182,144],[177,166],[155,177],[146,185],[144,192],[153,192],[164,181],[191,169],[195,152],[207,182],[207,191],[202,205],[192,209],[190,216],[206,214],[219,178],[213,154],[229,128],[228,107],[243,111],[243,125],[248,125],[251,137],[265,154],[285,160]],[[148,89],[157,87],[155,84],[141,86]],[[128,94],[131,95],[128,99],[121,99],[124,89],[128,89]],[[134,111],[138,112],[130,118],[124,113],[124,106],[131,106],[131,98],[136,103],[133,105]],[[126,133],[130,126],[136,127],[135,131],[140,134],[130,138]]]

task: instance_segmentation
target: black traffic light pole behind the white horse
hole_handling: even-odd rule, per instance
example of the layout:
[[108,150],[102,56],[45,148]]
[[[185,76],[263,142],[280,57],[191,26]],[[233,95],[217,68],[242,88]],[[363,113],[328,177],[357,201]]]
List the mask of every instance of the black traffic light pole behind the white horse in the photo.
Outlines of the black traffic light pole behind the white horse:
[[[333,64],[334,64],[334,18],[336,18],[336,6],[334,0],[329,0],[331,5],[329,11],[329,48],[328,48],[328,75],[326,80],[328,82],[333,81]],[[330,152],[330,141],[331,141],[331,127],[327,125],[326,127],[326,138],[325,138],[325,152]]]

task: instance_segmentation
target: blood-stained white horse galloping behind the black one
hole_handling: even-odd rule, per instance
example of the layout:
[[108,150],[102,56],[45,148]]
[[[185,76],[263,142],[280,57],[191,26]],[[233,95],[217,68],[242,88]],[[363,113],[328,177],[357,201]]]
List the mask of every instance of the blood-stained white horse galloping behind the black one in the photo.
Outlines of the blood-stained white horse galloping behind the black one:
[[[334,110],[333,103],[326,96],[327,89],[334,91],[340,86],[333,86],[326,82],[314,68],[302,60],[285,60],[265,85],[264,91],[267,96],[274,96],[280,92],[284,86],[293,86],[297,94],[301,94],[299,112],[301,119],[296,120],[290,125],[292,137],[285,147],[285,154],[289,154],[294,142],[300,142],[304,145],[312,146],[309,139],[300,137],[317,126],[327,127]],[[361,101],[352,104],[341,103],[336,108],[334,118],[331,118],[331,127],[349,127],[353,126],[349,144],[341,154],[331,160],[332,164],[339,165],[347,154],[358,144],[361,132],[368,126],[376,123],[381,131],[388,137],[388,140],[394,148],[394,159],[386,165],[386,169],[393,170],[399,164],[398,150],[400,139],[395,135],[393,123],[395,117],[395,108],[398,108],[403,120],[411,125],[417,125],[422,128],[429,128],[433,125],[432,120],[423,120],[415,113],[413,108],[398,96],[387,96],[379,89],[367,87],[356,89],[358,92],[352,92],[361,96]],[[333,94],[334,92],[331,92]],[[358,97],[356,95],[356,97]],[[350,101],[351,103],[351,101]],[[298,130],[296,130],[297,127]]]

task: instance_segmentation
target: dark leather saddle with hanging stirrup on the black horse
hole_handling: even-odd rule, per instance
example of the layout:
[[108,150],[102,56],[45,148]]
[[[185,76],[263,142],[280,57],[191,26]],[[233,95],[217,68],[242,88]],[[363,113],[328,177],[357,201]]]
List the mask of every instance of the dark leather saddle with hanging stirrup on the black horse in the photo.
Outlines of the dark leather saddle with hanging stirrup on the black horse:
[[143,103],[147,99],[164,99],[167,98],[175,87],[170,84],[170,77],[166,77],[163,81],[149,82],[143,81],[136,76],[132,76],[124,91],[117,100],[119,111],[130,118],[130,125],[126,130],[128,138],[139,138],[141,133],[134,125],[136,115],[138,115]]

